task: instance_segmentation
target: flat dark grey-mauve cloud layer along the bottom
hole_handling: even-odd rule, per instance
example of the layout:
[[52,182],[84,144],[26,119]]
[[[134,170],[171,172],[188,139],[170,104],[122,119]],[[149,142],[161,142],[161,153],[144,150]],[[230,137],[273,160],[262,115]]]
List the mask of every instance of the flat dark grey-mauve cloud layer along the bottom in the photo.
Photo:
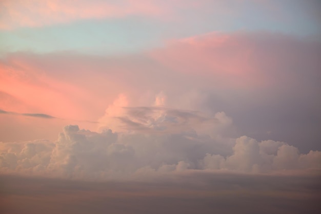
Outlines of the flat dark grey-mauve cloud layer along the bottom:
[[320,176],[176,173],[146,182],[0,176],[0,211],[46,213],[319,213]]

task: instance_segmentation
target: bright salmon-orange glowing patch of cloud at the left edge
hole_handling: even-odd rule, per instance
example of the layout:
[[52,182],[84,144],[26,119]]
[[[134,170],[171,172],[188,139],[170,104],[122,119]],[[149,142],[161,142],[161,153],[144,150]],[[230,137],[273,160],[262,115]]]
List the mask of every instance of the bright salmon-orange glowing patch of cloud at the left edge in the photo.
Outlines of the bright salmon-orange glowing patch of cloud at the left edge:
[[60,118],[86,117],[79,102],[91,97],[88,92],[72,83],[50,78],[30,62],[18,58],[8,62],[0,63],[0,91],[9,100],[0,108],[19,113],[41,112]]

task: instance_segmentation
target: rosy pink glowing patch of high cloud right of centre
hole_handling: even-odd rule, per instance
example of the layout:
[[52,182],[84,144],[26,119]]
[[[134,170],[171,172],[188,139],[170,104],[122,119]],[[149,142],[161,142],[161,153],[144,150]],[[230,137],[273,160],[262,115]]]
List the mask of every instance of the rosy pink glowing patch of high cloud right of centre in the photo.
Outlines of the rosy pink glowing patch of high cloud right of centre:
[[215,76],[216,81],[243,85],[257,78],[252,60],[255,50],[248,40],[240,36],[209,33],[173,40],[166,49],[151,53],[157,61],[179,72],[192,75]]

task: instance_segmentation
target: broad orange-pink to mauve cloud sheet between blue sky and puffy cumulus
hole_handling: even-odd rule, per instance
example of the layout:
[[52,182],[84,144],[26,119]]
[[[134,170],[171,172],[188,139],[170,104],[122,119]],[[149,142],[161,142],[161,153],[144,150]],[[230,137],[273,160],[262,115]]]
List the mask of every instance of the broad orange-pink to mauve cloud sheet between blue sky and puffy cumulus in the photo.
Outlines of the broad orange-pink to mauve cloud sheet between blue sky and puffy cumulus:
[[[0,109],[74,119],[59,130],[89,120],[101,123],[78,124],[115,132],[175,127],[168,110],[167,117],[157,118],[156,112],[160,116],[164,110],[155,108],[141,118],[124,106],[162,105],[211,117],[225,112],[233,118],[230,137],[284,141],[309,153],[320,150],[320,47],[280,34],[213,32],[176,39],[144,54],[12,53],[1,60],[0,90],[10,97],[0,94]],[[119,94],[127,103],[114,104]]]

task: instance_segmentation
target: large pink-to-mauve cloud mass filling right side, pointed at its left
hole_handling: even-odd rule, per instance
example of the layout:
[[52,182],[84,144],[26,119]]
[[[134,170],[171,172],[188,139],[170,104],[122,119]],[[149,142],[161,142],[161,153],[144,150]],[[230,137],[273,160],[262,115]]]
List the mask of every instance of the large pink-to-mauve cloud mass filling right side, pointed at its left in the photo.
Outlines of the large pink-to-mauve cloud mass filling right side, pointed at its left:
[[[193,77],[191,85],[199,81],[204,91],[213,89],[205,102],[229,113],[240,135],[318,144],[319,42],[273,33],[212,32],[174,39],[149,54],[165,68]],[[309,123],[306,130],[303,124]],[[294,137],[294,130],[310,134]]]

